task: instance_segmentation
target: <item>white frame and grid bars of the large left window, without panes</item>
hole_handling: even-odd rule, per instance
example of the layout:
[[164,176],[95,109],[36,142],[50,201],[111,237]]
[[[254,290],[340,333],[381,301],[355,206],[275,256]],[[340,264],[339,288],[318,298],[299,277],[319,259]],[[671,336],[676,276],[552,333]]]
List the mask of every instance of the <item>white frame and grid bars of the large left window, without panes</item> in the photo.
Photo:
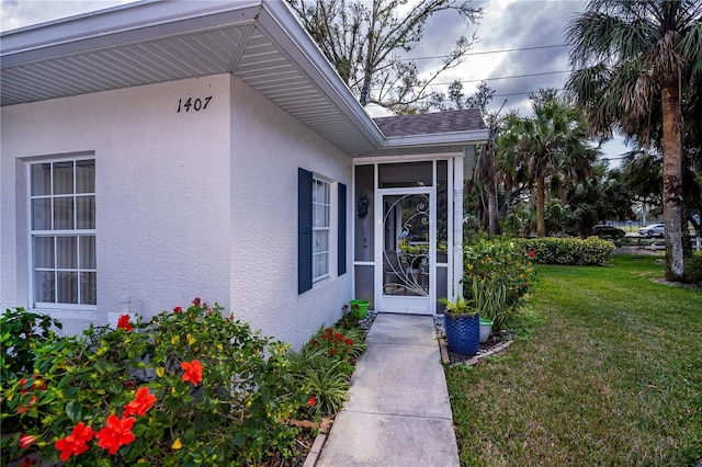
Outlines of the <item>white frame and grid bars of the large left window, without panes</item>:
[[[92,191],[91,192],[79,192],[78,191],[78,175],[77,168],[78,164],[82,161],[92,161],[93,162],[93,179],[92,179]],[[72,163],[72,191],[70,193],[55,193],[55,166],[71,162]],[[49,171],[49,193],[48,194],[33,194],[33,168],[35,166],[42,164],[50,164]],[[29,299],[32,309],[57,309],[57,310],[86,310],[93,311],[98,309],[98,264],[97,264],[97,159],[94,155],[87,156],[71,156],[71,157],[61,157],[61,158],[45,158],[45,159],[33,159],[27,161],[27,262],[29,262]],[[56,198],[68,198],[72,200],[72,227],[73,228],[55,228],[55,200]],[[91,215],[92,215],[92,228],[78,228],[79,227],[79,216],[78,209],[79,204],[77,202],[78,198],[88,198],[92,197],[92,206],[90,206]],[[48,203],[48,216],[50,216],[49,228],[35,228],[34,225],[34,208],[33,201],[34,200],[49,200]],[[35,247],[35,239],[38,238],[50,238],[53,239],[53,265],[49,266],[37,266],[38,254]],[[75,263],[75,266],[61,266],[59,264],[59,247],[58,242],[60,238],[76,238],[75,242],[75,255],[70,259],[71,262]],[[81,242],[84,241],[86,238],[92,238],[92,255],[93,255],[93,264],[92,267],[90,265],[86,265],[84,261],[81,259]],[[90,247],[89,247],[90,248]],[[54,299],[55,301],[41,301],[38,299],[39,289],[37,285],[37,272],[46,271],[54,272]],[[76,297],[78,303],[66,303],[58,301],[60,287],[58,286],[58,274],[71,273],[76,274]],[[81,274],[83,273],[92,273],[94,274],[94,291],[91,291],[91,294],[94,294],[94,304],[86,304],[80,303],[82,300],[82,292],[81,292]],[[84,301],[84,300],[83,300]]]

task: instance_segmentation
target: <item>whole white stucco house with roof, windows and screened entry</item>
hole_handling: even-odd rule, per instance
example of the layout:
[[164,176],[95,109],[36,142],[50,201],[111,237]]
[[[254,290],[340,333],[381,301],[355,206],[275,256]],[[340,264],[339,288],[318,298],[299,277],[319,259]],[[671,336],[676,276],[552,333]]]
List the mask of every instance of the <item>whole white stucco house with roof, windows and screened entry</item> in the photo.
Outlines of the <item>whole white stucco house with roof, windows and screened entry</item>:
[[0,36],[0,306],[64,331],[217,301],[299,346],[435,314],[474,111],[373,119],[285,2],[144,1]]

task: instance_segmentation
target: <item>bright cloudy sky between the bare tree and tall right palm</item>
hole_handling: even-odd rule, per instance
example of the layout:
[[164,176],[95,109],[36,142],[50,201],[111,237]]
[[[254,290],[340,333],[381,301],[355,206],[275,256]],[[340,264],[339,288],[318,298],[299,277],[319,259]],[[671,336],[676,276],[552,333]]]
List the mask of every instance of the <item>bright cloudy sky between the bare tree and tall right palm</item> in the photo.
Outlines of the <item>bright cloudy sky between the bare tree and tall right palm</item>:
[[[567,22],[585,8],[585,1],[580,0],[482,0],[473,4],[484,10],[477,26],[467,26],[455,12],[438,13],[429,20],[422,42],[411,56],[445,54],[457,37],[474,32],[478,42],[472,53],[563,45]],[[421,60],[418,65],[423,76],[428,76],[438,62]],[[464,92],[469,95],[478,84],[476,80],[488,79],[496,90],[492,110],[507,99],[507,107],[520,109],[525,114],[530,107],[526,93],[540,88],[563,88],[568,73],[553,72],[568,69],[566,47],[469,55],[464,64],[438,80],[441,84],[437,89],[444,90],[443,83],[458,79],[467,81]],[[494,79],[503,77],[520,78]]]

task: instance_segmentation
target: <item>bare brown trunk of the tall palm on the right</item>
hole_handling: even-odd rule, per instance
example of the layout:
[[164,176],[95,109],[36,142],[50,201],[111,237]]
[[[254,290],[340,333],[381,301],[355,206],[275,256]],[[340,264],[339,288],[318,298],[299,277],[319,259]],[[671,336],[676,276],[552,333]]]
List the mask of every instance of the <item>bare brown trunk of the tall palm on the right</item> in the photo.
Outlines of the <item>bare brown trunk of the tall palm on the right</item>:
[[666,278],[679,281],[684,272],[682,249],[682,116],[678,78],[668,75],[661,88],[663,214],[666,224]]

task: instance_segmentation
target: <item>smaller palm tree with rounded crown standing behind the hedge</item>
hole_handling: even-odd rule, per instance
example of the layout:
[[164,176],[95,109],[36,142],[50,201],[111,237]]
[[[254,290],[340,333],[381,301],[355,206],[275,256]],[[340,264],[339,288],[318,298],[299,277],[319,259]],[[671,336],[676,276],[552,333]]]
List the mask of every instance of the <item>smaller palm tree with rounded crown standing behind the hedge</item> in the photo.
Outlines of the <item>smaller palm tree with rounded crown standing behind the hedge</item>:
[[[531,95],[533,117],[520,117],[510,112],[505,129],[497,139],[500,158],[513,160],[530,180],[535,181],[536,235],[546,234],[546,182],[568,173],[582,179],[596,151],[586,144],[586,122],[582,114],[553,90]],[[577,170],[573,170],[576,168]]]

